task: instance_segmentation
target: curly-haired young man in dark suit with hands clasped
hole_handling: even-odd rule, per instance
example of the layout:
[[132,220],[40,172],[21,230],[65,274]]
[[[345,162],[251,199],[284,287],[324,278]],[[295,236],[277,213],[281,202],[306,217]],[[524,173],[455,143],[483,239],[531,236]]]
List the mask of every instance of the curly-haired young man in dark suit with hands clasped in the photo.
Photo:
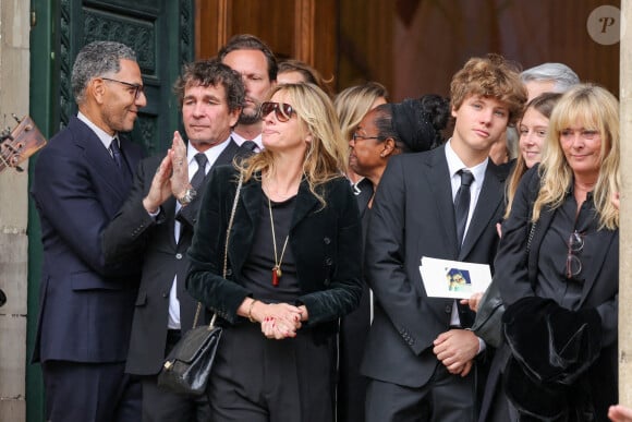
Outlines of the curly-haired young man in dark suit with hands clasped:
[[369,422],[476,417],[474,362],[484,342],[465,329],[473,322],[465,305],[427,297],[420,264],[423,256],[491,264],[506,174],[489,148],[526,92],[516,71],[489,56],[453,76],[450,97],[450,141],[391,158],[373,204],[365,265],[376,302],[362,364]]

